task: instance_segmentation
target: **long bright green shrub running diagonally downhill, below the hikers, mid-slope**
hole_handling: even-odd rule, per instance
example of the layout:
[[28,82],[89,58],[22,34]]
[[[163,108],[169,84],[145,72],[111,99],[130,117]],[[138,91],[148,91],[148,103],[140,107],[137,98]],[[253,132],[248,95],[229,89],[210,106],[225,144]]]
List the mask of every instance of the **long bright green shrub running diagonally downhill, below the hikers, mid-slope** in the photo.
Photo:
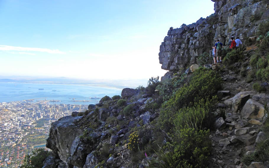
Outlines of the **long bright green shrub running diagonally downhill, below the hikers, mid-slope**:
[[179,109],[191,107],[201,100],[208,102],[214,94],[221,88],[222,80],[216,71],[200,68],[197,69],[189,85],[185,84],[179,88],[175,95],[162,105],[159,124],[161,129],[172,127],[173,119]]

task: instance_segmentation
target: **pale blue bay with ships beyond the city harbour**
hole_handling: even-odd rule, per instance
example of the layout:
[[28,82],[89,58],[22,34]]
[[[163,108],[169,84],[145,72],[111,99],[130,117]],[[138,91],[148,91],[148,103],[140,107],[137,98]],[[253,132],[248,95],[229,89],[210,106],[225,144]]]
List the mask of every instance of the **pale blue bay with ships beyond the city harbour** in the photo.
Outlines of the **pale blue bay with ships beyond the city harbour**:
[[104,96],[121,95],[122,89],[77,84],[0,82],[0,102],[50,100],[50,104],[97,104]]

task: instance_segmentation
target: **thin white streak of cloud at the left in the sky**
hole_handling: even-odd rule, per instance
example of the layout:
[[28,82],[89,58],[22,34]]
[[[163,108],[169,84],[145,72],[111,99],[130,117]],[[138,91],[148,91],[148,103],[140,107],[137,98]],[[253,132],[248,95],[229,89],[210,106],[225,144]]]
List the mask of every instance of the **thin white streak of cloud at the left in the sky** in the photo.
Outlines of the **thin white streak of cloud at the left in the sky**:
[[0,51],[37,51],[37,52],[46,52],[49,54],[65,54],[65,52],[59,51],[58,49],[17,47],[17,46],[6,46],[6,45],[0,45]]

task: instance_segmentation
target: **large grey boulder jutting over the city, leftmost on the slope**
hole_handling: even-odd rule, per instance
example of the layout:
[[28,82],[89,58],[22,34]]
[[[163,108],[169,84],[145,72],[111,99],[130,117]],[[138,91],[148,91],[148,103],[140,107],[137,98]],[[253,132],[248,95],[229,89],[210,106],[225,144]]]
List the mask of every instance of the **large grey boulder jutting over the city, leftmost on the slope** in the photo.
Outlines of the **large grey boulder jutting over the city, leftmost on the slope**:
[[67,116],[53,122],[46,147],[53,150],[66,166],[69,165],[68,158],[71,156],[71,146],[77,136],[83,134],[83,130],[73,123],[74,118]]

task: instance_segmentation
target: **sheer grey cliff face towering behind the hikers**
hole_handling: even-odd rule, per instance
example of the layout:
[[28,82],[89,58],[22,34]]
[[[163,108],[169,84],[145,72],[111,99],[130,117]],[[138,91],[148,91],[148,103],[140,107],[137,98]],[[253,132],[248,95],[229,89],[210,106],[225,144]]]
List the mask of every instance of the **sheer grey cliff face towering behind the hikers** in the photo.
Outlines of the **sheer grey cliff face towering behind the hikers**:
[[[212,0],[215,14],[196,23],[168,30],[160,46],[162,69],[180,71],[196,63],[203,52],[209,52],[219,39],[228,44],[231,36],[246,41],[255,36],[261,21],[268,20],[268,1]],[[168,72],[169,74],[169,72]],[[168,75],[167,74],[167,75]]]

